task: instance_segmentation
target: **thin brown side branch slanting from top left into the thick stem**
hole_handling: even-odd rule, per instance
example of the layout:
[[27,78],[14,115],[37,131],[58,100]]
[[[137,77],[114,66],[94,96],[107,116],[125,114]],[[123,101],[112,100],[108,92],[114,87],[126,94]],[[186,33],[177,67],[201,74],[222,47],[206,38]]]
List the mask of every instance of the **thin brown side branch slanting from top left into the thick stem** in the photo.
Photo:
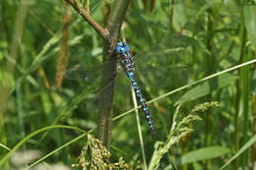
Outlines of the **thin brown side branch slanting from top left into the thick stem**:
[[90,15],[88,10],[79,8],[75,0],[65,1],[68,2],[85,19],[87,23],[95,28],[96,32],[98,32],[103,39],[109,40],[108,31],[96,23],[95,19]]

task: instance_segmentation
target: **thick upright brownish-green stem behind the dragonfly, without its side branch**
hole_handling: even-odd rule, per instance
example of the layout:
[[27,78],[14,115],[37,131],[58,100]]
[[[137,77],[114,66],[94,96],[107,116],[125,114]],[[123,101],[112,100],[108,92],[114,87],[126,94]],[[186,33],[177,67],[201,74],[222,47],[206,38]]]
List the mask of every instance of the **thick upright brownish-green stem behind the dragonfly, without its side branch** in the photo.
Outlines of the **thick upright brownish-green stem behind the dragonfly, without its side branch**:
[[[122,22],[125,18],[126,11],[130,0],[116,0],[111,8],[106,28],[109,32],[108,39],[103,41],[103,62],[111,60],[113,47],[119,39],[119,31]],[[99,100],[99,116],[98,116],[98,139],[106,146],[107,149],[110,147],[111,141],[111,126],[113,117],[113,95],[114,95],[114,81],[111,85],[105,86],[109,83],[116,74],[116,62],[112,62],[109,65],[104,65],[102,70],[102,90],[100,91]],[[105,86],[105,87],[103,87]]]

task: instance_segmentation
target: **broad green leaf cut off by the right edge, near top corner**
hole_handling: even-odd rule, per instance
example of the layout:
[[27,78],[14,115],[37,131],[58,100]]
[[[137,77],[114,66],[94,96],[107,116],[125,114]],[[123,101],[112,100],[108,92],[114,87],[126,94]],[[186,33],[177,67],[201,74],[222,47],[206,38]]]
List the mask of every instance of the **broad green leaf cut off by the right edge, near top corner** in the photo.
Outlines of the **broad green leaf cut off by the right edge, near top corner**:
[[245,5],[243,14],[248,38],[254,48],[256,48],[256,5]]

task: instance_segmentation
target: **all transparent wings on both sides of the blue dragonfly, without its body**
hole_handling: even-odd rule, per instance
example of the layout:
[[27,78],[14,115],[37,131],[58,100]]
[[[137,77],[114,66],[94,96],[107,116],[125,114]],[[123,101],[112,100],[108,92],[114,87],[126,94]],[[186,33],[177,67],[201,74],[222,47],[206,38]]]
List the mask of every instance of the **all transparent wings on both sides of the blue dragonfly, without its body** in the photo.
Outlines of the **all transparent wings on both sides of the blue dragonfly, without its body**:
[[[142,90],[147,90],[146,93],[150,92],[157,96],[162,90],[171,90],[189,81],[191,70],[179,64],[186,60],[183,56],[187,48],[191,46],[189,41],[193,40],[183,35],[172,35],[164,39],[159,45],[134,56],[135,80]],[[129,80],[123,71],[119,71],[120,69],[116,64],[117,61],[114,60],[94,67],[77,65],[67,71],[65,78],[81,82],[83,85],[91,86],[94,89],[94,95],[88,98],[90,102],[86,104],[90,111],[99,108],[98,101],[102,97],[101,91],[113,85],[114,80],[116,91],[119,94],[123,93],[119,96],[130,96]],[[111,92],[109,91],[109,93]],[[150,98],[154,96],[150,96]],[[104,97],[107,96],[104,95]],[[109,100],[106,101],[111,101],[111,96],[108,97]]]

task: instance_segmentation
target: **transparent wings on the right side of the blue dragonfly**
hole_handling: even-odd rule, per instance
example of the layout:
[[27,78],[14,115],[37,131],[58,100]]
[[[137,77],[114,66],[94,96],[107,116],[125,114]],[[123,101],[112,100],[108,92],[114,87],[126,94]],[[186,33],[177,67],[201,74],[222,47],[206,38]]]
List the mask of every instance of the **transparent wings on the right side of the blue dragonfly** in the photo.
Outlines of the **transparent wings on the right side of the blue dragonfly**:
[[152,89],[171,88],[184,85],[189,81],[192,69],[186,66],[191,44],[196,44],[188,36],[172,35],[148,52],[134,56],[136,80]]

